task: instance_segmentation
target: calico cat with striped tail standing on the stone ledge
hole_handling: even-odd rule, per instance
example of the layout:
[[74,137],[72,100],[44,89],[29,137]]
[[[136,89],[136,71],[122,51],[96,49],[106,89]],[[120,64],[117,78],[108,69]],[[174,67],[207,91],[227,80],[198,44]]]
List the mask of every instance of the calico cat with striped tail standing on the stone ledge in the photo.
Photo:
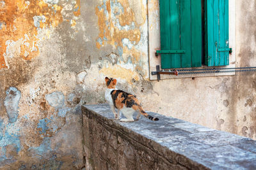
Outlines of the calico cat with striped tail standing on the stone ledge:
[[[132,122],[134,121],[132,115],[135,111],[139,111],[138,116],[136,117],[136,120],[140,118],[140,114],[144,117],[149,118],[150,120],[158,120],[157,117],[152,117],[148,115],[145,111],[143,111],[143,108],[140,105],[140,102],[136,98],[136,96],[129,94],[127,92],[124,92],[122,90],[116,89],[116,79],[113,78],[105,78],[106,85],[108,89],[105,92],[105,99],[108,101],[109,106],[111,107],[115,119],[118,120],[120,115],[120,111],[124,114],[126,118],[121,118],[120,121],[122,122]],[[118,109],[117,113],[115,111],[115,108]]]

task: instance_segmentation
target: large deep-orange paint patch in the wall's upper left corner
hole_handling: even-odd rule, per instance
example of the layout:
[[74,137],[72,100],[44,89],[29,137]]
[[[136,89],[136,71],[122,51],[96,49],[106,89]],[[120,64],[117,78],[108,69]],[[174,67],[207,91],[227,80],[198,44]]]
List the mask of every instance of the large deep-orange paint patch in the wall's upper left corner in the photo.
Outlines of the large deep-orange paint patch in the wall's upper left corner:
[[[74,15],[80,15],[80,0],[77,0],[78,10]],[[58,4],[47,4],[43,0],[19,0],[4,1],[0,5],[0,69],[6,68],[4,53],[6,52],[6,41],[17,41],[23,39],[20,46],[20,57],[31,60],[38,56],[37,29],[45,27],[56,27],[63,22],[61,10]]]

